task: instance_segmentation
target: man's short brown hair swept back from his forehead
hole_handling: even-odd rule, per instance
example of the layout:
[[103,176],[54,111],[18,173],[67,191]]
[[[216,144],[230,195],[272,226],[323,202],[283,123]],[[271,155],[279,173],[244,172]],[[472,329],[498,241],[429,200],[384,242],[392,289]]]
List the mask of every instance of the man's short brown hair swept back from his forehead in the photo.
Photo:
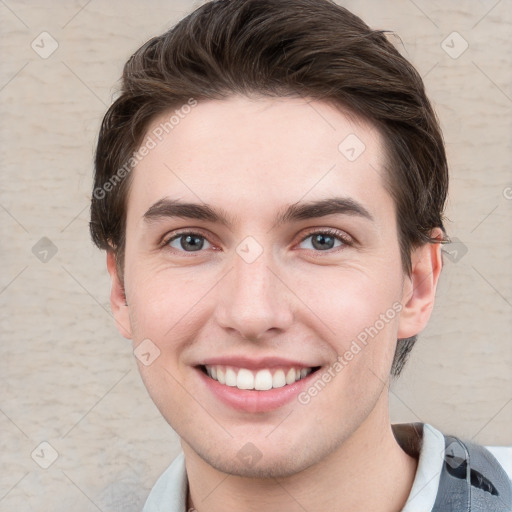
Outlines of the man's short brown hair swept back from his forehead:
[[[131,56],[120,96],[103,119],[90,230],[98,247],[114,250],[121,276],[131,181],[126,162],[149,124],[191,98],[235,94],[321,100],[369,120],[387,147],[384,181],[396,205],[404,271],[411,272],[414,247],[440,241],[431,232],[444,232],[442,134],[420,75],[386,32],[331,0],[213,0]],[[398,340],[394,376],[415,341]]]

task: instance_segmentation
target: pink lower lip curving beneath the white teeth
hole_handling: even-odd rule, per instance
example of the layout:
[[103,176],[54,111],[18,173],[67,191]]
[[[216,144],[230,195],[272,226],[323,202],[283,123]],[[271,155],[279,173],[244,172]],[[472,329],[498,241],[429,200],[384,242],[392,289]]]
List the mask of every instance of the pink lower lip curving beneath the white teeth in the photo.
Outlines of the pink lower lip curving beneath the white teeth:
[[287,384],[281,388],[273,388],[267,391],[238,389],[236,386],[226,386],[206,375],[201,369],[196,368],[200,378],[208,389],[223,403],[233,409],[245,412],[267,412],[279,409],[283,405],[296,399],[297,395],[309,385],[318,371],[310,373],[307,377]]

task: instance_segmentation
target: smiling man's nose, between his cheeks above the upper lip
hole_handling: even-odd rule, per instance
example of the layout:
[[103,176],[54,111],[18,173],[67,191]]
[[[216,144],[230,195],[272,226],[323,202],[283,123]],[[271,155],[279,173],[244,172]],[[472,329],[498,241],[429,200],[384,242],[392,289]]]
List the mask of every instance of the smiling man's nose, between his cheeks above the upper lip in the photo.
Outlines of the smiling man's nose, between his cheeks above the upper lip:
[[271,268],[275,265],[267,254],[252,262],[234,254],[233,267],[218,290],[217,322],[250,341],[275,336],[293,322],[293,294]]

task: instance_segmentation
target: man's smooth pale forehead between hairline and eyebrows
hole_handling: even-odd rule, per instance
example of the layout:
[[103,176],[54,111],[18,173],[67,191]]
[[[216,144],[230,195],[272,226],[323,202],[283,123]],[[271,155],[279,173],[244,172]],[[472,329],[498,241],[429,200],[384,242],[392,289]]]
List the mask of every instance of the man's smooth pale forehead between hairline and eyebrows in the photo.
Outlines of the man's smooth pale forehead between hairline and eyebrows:
[[169,196],[239,219],[271,220],[284,204],[333,195],[393,214],[378,130],[323,102],[235,96],[177,107],[144,144],[152,149],[133,171],[128,219]]

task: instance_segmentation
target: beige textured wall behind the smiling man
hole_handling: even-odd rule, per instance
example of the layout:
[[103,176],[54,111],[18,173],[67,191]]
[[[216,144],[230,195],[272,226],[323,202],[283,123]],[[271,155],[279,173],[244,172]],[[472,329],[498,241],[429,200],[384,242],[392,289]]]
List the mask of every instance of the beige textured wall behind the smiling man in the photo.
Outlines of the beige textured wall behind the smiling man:
[[[445,258],[392,418],[510,445],[512,2],[340,3],[395,30],[425,77],[450,159],[448,229],[467,249]],[[0,512],[140,510],[179,450],[114,327],[88,206],[95,138],[124,61],[195,4],[0,0]],[[46,59],[31,47],[43,31],[59,45]],[[452,58],[445,39],[452,56],[469,47]],[[42,237],[57,249],[46,263],[40,246],[33,253]]]

